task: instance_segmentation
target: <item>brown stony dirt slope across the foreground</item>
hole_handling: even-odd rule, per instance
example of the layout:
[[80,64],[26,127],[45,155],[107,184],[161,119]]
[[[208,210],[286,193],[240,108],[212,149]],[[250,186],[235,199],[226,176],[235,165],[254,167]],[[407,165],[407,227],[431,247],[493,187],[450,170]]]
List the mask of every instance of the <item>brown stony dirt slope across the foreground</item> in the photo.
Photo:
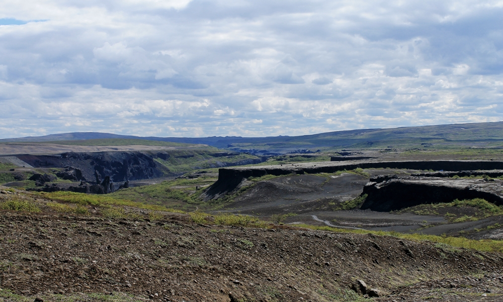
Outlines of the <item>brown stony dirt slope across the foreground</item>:
[[446,245],[280,226],[197,225],[183,214],[156,221],[1,214],[0,297],[7,301],[104,295],[348,301],[363,299],[351,289],[358,279],[381,290],[376,301],[503,297],[500,254]]

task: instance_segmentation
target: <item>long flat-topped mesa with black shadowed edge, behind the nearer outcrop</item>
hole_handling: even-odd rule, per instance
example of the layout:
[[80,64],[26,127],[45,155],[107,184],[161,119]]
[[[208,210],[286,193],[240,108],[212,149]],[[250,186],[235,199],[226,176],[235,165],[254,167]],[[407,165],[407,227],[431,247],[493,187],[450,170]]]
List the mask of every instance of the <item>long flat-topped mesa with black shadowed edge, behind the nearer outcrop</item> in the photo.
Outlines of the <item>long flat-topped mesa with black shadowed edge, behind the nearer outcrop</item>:
[[344,161],[344,162],[310,162],[274,166],[220,168],[218,181],[206,191],[209,199],[235,189],[248,177],[262,177],[265,175],[316,174],[334,173],[337,171],[376,168],[411,169],[411,170],[495,170],[503,169],[503,162],[496,161]]

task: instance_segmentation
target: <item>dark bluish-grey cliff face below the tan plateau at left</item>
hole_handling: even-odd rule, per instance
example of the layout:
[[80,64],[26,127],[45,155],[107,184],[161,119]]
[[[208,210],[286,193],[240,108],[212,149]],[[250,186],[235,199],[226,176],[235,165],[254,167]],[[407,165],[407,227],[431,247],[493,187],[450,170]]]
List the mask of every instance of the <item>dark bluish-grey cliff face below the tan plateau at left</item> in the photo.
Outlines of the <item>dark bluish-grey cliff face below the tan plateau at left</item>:
[[96,180],[96,172],[100,182],[107,176],[113,182],[162,176],[153,157],[143,152],[69,152],[60,156],[21,155],[18,158],[35,168],[74,167],[88,181]]

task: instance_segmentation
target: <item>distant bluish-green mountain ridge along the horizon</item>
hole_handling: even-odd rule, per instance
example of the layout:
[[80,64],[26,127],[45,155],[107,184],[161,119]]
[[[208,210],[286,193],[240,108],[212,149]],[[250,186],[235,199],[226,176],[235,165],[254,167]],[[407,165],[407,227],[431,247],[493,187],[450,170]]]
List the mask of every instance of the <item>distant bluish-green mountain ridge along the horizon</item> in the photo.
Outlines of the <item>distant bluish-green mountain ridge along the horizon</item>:
[[100,132],[73,132],[45,136],[0,139],[2,142],[44,142],[87,139],[145,139],[191,144],[207,144],[255,154],[312,152],[341,148],[446,148],[503,147],[503,122],[358,129],[301,136],[270,137],[141,137]]

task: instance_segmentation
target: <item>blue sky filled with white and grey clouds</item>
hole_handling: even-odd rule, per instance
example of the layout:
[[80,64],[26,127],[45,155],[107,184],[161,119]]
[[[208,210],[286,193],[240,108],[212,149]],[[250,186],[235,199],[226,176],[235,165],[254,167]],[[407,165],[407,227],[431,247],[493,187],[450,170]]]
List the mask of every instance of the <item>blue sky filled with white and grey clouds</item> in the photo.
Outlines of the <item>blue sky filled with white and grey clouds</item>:
[[0,138],[503,120],[503,1],[0,2]]

